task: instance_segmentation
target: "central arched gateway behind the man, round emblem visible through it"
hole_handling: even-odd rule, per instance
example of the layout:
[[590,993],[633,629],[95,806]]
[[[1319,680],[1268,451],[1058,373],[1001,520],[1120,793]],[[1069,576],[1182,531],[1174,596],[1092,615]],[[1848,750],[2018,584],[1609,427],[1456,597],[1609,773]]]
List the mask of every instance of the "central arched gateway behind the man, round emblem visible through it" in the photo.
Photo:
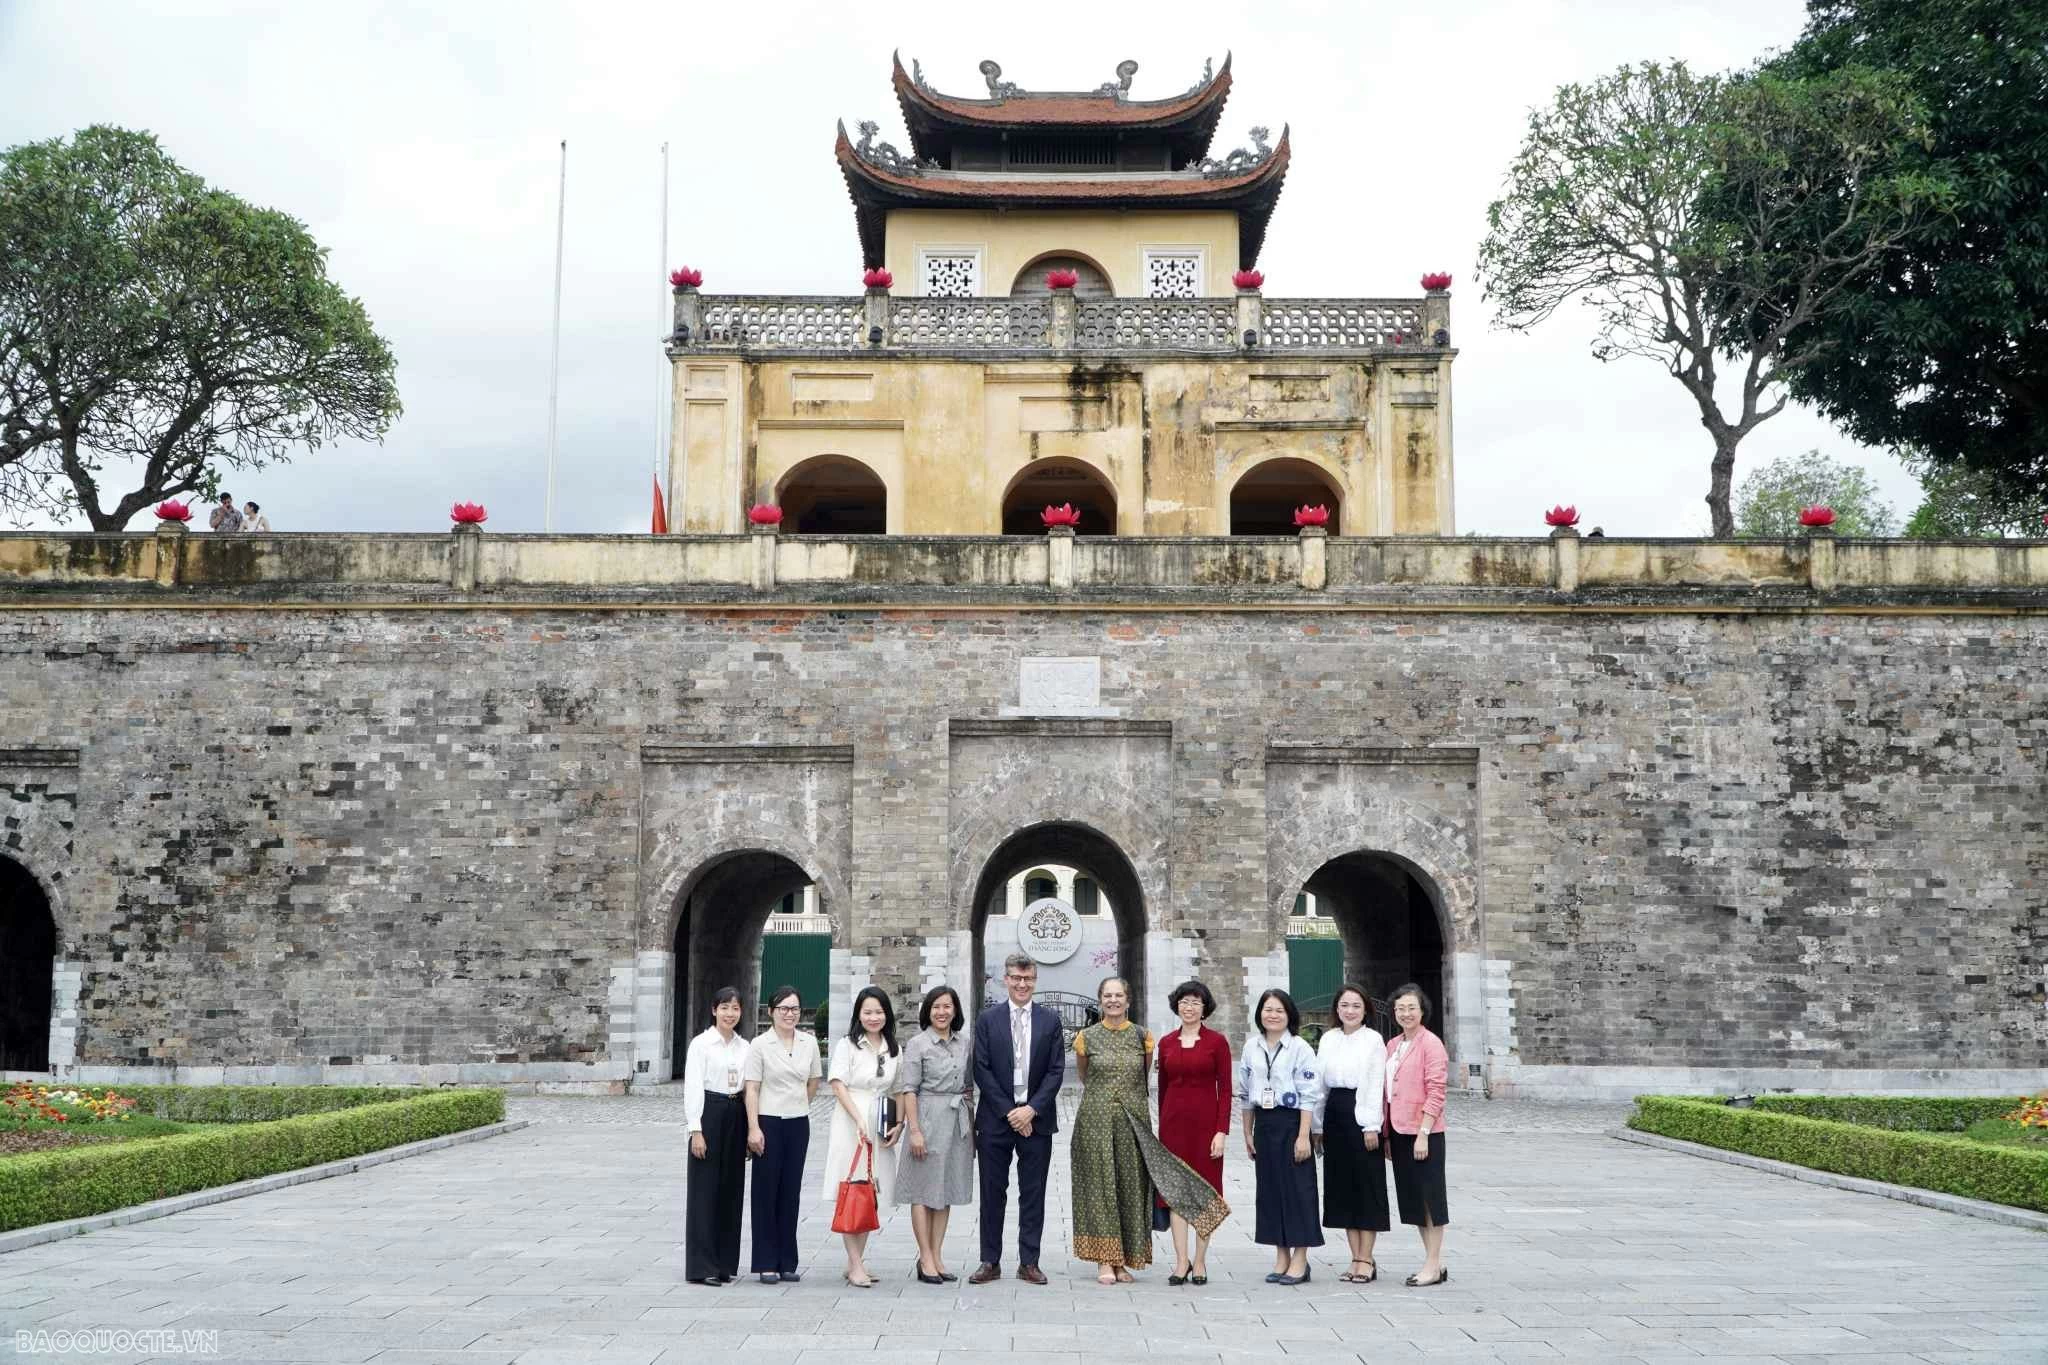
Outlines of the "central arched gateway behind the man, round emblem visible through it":
[[1108,835],[1067,821],[1016,831],[981,866],[969,921],[975,943],[973,1009],[979,1013],[981,1007],[1001,999],[1001,984],[995,978],[1016,945],[1014,937],[1004,941],[999,933],[1014,923],[1008,915],[1010,882],[1042,866],[1071,868],[1077,872],[1075,880],[1085,876],[1100,890],[1100,898],[1110,907],[1114,943],[1090,948],[1083,941],[1067,962],[1040,966],[1038,993],[1092,1001],[1096,982],[1104,976],[1122,976],[1130,982],[1133,1013],[1143,1017],[1143,1003],[1151,999],[1145,993],[1145,888],[1130,857]]

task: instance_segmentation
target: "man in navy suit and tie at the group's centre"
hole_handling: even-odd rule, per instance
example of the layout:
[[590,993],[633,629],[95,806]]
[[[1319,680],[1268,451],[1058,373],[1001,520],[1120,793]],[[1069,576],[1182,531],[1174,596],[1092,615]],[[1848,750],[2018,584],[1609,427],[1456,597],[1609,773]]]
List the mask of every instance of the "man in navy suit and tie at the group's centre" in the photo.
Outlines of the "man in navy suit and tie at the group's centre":
[[1059,1132],[1059,1083],[1067,1074],[1059,1015],[1032,1005],[1038,964],[1024,954],[1004,962],[1010,999],[975,1023],[975,1154],[981,1160],[981,1269],[985,1285],[1004,1275],[1004,1216],[1010,1207],[1010,1154],[1018,1158],[1018,1279],[1042,1285],[1038,1238],[1044,1232],[1044,1175]]

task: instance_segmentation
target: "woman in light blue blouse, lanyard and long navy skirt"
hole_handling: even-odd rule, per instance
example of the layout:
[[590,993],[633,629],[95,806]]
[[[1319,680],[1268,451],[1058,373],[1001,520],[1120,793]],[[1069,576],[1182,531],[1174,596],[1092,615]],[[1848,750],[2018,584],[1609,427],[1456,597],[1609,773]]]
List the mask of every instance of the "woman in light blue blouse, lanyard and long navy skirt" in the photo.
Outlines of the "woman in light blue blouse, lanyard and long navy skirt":
[[1251,1011],[1257,1033],[1237,1060],[1245,1105],[1245,1156],[1257,1189],[1251,1240],[1274,1248],[1270,1285],[1309,1281],[1309,1248],[1323,1244],[1315,1209],[1315,1162],[1309,1160],[1321,1066],[1296,1031],[1300,1009],[1286,990],[1268,990]]

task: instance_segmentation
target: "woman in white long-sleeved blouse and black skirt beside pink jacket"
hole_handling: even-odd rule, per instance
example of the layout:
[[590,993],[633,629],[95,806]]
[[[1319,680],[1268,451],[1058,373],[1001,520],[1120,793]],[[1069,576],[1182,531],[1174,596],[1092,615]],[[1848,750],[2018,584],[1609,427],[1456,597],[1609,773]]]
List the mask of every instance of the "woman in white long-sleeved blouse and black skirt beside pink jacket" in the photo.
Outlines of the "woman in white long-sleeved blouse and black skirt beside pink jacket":
[[[1366,988],[1337,986],[1329,1013],[1335,1027],[1315,1050],[1323,1064],[1323,1091],[1315,1132],[1323,1146],[1323,1226],[1343,1228],[1352,1242],[1352,1269],[1337,1275],[1350,1285],[1380,1277],[1372,1242],[1386,1232],[1386,1152],[1380,1124],[1386,1115],[1386,1040],[1366,1027]],[[756,1177],[758,1183],[758,1177]]]

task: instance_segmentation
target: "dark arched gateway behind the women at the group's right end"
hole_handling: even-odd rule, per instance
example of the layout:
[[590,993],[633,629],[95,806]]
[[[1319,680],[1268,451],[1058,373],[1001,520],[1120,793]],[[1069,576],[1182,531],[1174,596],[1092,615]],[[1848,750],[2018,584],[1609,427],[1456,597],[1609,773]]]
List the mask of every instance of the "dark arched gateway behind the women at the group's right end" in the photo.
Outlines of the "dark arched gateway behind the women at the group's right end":
[[[1343,978],[1356,980],[1374,1001],[1386,1001],[1397,986],[1415,982],[1430,995],[1423,1021],[1456,1050],[1450,1001],[1450,941],[1444,929],[1442,894],[1430,876],[1405,857],[1376,849],[1354,849],[1317,868],[1300,892],[1313,896],[1315,917],[1331,919],[1343,943]],[[1300,995],[1307,954],[1290,950],[1292,984]],[[1327,986],[1317,980],[1317,986]],[[1305,1009],[1327,1009],[1327,990],[1307,990]],[[1391,1027],[1389,1019],[1376,1019]]]

